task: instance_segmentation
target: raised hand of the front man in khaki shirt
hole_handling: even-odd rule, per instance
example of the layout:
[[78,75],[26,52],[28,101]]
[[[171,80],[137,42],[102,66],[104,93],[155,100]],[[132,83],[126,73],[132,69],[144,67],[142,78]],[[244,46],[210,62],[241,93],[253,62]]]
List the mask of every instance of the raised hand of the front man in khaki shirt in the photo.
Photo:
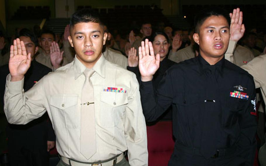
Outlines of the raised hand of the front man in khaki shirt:
[[23,41],[16,39],[10,47],[10,59],[8,63],[11,81],[23,79],[27,70],[30,68],[31,55],[27,54]]

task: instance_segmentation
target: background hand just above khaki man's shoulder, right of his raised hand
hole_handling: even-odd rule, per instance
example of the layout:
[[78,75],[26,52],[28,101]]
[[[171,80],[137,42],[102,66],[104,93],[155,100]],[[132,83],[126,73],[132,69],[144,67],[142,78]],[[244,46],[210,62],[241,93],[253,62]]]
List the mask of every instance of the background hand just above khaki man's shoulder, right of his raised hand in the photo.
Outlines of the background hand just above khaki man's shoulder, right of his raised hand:
[[61,66],[60,64],[63,60],[63,53],[64,51],[60,52],[58,43],[52,42],[50,47],[50,58],[54,69],[57,69]]

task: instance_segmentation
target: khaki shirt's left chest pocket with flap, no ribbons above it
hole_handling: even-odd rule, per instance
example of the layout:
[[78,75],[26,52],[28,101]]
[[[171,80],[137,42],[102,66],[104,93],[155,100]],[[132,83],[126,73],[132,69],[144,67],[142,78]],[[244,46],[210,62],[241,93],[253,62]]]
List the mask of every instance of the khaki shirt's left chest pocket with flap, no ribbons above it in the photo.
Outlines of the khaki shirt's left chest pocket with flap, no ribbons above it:
[[77,112],[78,95],[53,95],[51,96],[51,114],[54,124],[57,127],[77,128],[78,112]]

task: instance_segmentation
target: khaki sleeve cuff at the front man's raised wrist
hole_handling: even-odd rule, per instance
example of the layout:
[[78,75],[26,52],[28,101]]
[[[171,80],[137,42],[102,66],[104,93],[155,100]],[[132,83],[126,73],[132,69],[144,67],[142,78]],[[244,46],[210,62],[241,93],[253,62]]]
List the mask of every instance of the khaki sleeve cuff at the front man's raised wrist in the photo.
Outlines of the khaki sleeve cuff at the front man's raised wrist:
[[18,94],[22,91],[24,85],[24,77],[20,81],[11,81],[11,75],[8,74],[6,77],[6,87],[10,94]]

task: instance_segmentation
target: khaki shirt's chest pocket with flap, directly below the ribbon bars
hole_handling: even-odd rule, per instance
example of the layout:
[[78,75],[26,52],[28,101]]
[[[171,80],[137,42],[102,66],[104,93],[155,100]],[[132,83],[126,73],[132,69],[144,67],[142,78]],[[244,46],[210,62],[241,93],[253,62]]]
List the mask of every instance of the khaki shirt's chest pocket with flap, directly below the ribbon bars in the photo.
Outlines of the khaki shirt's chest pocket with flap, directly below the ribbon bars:
[[114,127],[123,125],[124,112],[128,103],[127,94],[117,92],[101,92],[100,125]]

